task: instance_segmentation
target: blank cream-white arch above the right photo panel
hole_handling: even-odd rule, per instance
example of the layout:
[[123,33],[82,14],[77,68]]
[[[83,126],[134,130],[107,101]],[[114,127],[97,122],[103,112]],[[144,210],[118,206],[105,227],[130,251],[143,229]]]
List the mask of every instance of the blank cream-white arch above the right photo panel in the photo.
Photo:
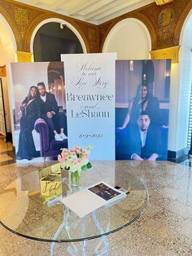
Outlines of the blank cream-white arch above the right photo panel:
[[103,45],[103,52],[114,51],[119,60],[149,59],[151,37],[146,25],[133,18],[117,23],[108,33]]

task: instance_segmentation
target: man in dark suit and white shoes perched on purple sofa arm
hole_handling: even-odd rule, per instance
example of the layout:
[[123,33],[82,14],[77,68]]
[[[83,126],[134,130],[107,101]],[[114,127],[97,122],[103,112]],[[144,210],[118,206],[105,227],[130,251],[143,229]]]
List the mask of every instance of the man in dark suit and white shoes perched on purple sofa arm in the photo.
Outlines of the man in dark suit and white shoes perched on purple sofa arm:
[[[59,121],[59,108],[55,95],[46,91],[46,86],[44,82],[38,82],[37,88],[40,94],[40,107],[41,107],[41,116],[45,119],[47,125],[50,127],[50,130],[55,135],[55,140],[63,140],[67,138],[63,133],[63,124]],[[60,134],[58,134],[56,126],[59,122]]]

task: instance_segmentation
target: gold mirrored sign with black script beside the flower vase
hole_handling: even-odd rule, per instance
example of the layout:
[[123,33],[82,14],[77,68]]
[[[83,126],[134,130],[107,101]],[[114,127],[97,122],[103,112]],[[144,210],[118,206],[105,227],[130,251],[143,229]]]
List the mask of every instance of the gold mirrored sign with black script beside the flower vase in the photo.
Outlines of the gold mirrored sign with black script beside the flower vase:
[[41,199],[43,203],[63,194],[60,164],[47,167],[39,172]]

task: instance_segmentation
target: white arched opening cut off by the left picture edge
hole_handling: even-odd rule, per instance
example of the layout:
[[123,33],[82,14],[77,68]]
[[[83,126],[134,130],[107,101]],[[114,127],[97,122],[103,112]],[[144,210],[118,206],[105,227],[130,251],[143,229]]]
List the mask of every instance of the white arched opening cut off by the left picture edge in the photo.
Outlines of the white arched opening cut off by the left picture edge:
[[[16,42],[14,34],[11,30],[10,25],[8,24],[7,20],[4,18],[3,15],[0,14],[0,66],[5,66],[6,72],[1,77],[1,105],[4,108],[2,112],[4,115],[4,129],[5,129],[5,136],[7,141],[11,141],[11,130],[13,130],[13,113],[12,109],[14,108],[13,102],[13,95],[11,95],[12,90],[8,82],[8,64],[12,61],[15,61],[15,51],[16,51]],[[3,98],[3,102],[2,102]],[[2,126],[2,121],[1,121]],[[2,128],[3,130],[3,128]]]

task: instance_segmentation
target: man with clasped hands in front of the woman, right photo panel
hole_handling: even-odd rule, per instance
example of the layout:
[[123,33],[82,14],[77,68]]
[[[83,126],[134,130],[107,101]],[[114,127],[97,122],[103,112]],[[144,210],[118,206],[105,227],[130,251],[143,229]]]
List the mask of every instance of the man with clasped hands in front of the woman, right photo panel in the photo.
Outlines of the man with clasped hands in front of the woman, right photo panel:
[[129,159],[155,161],[161,155],[161,137],[159,129],[151,126],[147,112],[137,118],[137,126],[129,130]]

